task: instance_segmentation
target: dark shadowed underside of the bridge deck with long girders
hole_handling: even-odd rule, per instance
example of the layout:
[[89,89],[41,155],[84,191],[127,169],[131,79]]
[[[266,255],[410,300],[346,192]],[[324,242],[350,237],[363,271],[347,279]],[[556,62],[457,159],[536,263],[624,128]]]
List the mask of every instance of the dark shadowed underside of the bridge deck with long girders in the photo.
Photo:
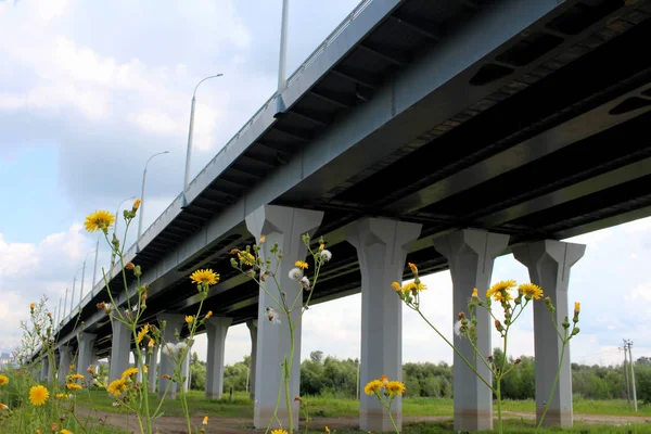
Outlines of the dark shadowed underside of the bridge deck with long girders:
[[[384,98],[387,89],[398,92],[395,84],[418,59],[500,4],[399,2],[135,260],[144,270],[161,266],[183,240],[268,176],[308,155],[310,144],[337,123]],[[367,141],[363,161],[356,154],[362,151],[350,149],[269,197],[272,204],[324,212],[317,237],[326,238],[333,260],[312,303],[359,292],[357,253],[344,230],[363,217],[422,224],[407,259],[431,273],[447,268],[434,240],[458,229],[509,234],[512,247],[651,215],[649,41],[649,2],[566,1],[382,125],[378,133],[384,138]],[[395,93],[393,102],[399,97]],[[195,312],[199,295],[187,276],[209,267],[221,273],[221,282],[205,309],[233,317],[233,324],[256,318],[258,289],[229,264],[231,248],[253,242],[243,221],[208,240],[159,279],[148,311]],[[117,292],[120,281],[113,284]],[[105,295],[87,305],[85,315]],[[99,320],[92,328],[100,355],[107,354],[111,324]]]

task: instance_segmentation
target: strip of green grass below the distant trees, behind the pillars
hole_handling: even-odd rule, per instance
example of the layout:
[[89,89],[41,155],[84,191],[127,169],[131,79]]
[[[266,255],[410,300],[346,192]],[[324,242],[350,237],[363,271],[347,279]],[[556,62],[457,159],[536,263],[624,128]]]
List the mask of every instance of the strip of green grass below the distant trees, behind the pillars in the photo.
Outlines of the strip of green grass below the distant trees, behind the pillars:
[[[315,417],[346,417],[359,414],[359,403],[354,399],[335,398],[328,396],[306,397],[309,403],[310,413]],[[92,401],[92,404],[91,404]],[[155,394],[150,394],[151,406],[157,404]],[[79,394],[78,404],[82,407],[94,407],[98,410],[119,412],[119,407],[113,406],[113,399],[104,391],[90,391],[89,394]],[[233,401],[229,403],[228,397],[219,400],[206,400],[203,392],[191,391],[188,394],[188,404],[191,416],[200,417],[210,414],[224,418],[253,418],[253,403],[248,399],[248,394],[238,392],[233,394]],[[181,407],[176,401],[163,403],[163,411],[166,416],[182,416]],[[529,412],[535,411],[533,400],[506,401],[505,411]],[[588,400],[575,399],[575,414],[608,414],[608,416],[636,416],[628,408],[625,400]],[[452,416],[451,399],[432,399],[432,398],[406,398],[403,401],[404,416]],[[637,416],[651,417],[651,406],[640,405]]]

